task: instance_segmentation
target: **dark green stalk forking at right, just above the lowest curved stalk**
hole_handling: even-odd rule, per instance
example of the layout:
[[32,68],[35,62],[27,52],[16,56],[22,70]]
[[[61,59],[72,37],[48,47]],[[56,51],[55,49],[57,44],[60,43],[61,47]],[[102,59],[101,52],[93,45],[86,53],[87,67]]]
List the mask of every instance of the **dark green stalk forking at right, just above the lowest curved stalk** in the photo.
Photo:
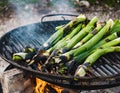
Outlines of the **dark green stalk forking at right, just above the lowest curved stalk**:
[[66,62],[65,65],[67,66],[68,71],[71,72],[75,63],[81,64],[97,48],[104,48],[104,47],[110,47],[110,46],[118,45],[119,42],[120,41],[118,39],[117,34],[113,33],[113,34],[107,36],[106,38],[102,39],[100,42],[98,42],[94,47],[92,47],[88,51],[85,51],[85,52],[81,53],[80,55],[75,56],[71,61]]

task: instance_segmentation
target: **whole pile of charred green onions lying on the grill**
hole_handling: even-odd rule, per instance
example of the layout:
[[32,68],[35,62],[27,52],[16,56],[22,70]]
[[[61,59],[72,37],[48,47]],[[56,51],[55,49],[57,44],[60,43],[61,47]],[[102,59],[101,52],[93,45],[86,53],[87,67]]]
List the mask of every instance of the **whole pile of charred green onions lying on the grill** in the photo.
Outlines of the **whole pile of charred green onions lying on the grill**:
[[99,22],[95,16],[88,20],[79,15],[57,31],[43,44],[46,50],[36,53],[34,48],[13,54],[14,61],[24,60],[28,65],[40,63],[41,70],[57,74],[71,74],[79,63],[74,76],[85,76],[89,67],[100,56],[120,52],[120,20]]

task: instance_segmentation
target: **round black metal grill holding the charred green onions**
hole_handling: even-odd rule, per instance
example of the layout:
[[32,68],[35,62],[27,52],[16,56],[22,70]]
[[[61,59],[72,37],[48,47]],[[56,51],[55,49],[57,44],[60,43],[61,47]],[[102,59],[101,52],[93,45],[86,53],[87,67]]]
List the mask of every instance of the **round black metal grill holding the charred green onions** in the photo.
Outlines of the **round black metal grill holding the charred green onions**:
[[[46,15],[44,17],[56,15]],[[62,16],[66,15],[62,14]],[[40,49],[41,45],[55,32],[54,28],[56,26],[69,22],[69,20],[65,20],[65,17],[64,20],[45,22],[43,22],[43,18],[40,23],[16,28],[2,36],[0,39],[1,57],[13,66],[27,71],[35,77],[70,89],[95,90],[120,85],[120,53],[109,53],[102,56],[88,71],[88,75],[81,78],[54,75],[32,69],[25,62],[16,63],[12,61],[13,53],[23,51],[26,46]]]

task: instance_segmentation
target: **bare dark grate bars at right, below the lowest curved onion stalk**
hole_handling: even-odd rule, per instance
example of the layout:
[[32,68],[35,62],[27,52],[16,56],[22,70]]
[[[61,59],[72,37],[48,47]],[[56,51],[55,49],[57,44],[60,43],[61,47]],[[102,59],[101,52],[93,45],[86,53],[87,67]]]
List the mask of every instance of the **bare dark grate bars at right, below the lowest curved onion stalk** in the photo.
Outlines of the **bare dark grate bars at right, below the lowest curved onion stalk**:
[[111,53],[101,57],[93,66],[95,76],[103,77],[120,74],[120,60],[117,58],[118,55],[120,55],[120,53]]

